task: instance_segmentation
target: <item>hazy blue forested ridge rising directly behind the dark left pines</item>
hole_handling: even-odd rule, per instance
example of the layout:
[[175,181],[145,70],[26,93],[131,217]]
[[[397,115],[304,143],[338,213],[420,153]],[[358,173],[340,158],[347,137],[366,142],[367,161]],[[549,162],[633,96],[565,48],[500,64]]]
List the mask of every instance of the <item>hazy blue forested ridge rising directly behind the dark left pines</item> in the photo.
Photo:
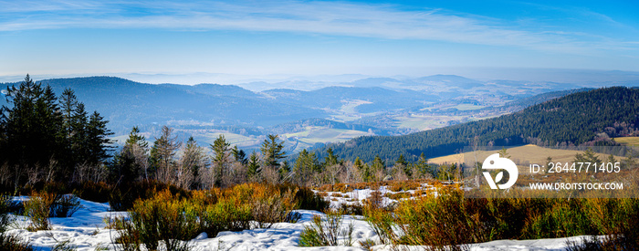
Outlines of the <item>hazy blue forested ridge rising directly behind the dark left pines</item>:
[[99,110],[112,131],[133,125],[196,120],[216,125],[271,126],[323,117],[323,110],[265,99],[239,87],[152,85],[114,77],[54,78],[39,81],[59,95],[74,89],[87,110]]

